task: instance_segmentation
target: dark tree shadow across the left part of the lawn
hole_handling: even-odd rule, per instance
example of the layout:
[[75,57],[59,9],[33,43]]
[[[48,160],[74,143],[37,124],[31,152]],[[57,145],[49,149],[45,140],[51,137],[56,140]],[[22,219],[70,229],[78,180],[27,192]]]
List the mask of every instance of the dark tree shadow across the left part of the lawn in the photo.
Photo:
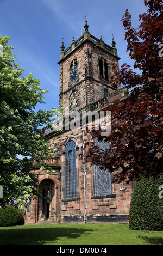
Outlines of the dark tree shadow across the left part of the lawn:
[[77,239],[89,235],[95,229],[70,227],[34,227],[0,230],[0,245],[58,245],[57,240]]

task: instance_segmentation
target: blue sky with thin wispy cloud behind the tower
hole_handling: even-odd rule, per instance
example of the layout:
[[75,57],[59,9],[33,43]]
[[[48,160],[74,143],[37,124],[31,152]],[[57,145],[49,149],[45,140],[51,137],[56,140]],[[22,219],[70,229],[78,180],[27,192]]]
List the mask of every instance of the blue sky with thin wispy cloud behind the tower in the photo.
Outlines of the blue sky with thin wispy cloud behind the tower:
[[[111,46],[114,34],[119,64],[132,65],[124,40],[122,16],[126,9],[135,28],[139,26],[139,14],[145,13],[143,0],[0,0],[0,34],[10,36],[26,76],[30,72],[40,79],[40,86],[48,89],[46,105],[39,108],[59,107],[59,58],[62,38],[65,48],[84,33],[84,16],[89,32],[102,38]],[[82,29],[81,29],[82,28]],[[82,30],[82,32],[81,32]]]

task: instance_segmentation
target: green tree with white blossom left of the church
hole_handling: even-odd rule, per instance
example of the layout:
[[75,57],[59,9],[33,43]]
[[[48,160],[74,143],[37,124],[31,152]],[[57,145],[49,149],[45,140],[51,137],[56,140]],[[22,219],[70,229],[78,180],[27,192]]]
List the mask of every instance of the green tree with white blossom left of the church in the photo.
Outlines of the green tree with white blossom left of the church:
[[40,127],[52,128],[52,110],[36,111],[47,89],[32,74],[22,76],[23,69],[14,62],[8,46],[9,36],[0,36],[0,185],[3,199],[0,206],[15,202],[24,206],[31,195],[37,196],[37,177],[30,172],[37,161],[41,170],[50,172],[45,157],[54,155]]

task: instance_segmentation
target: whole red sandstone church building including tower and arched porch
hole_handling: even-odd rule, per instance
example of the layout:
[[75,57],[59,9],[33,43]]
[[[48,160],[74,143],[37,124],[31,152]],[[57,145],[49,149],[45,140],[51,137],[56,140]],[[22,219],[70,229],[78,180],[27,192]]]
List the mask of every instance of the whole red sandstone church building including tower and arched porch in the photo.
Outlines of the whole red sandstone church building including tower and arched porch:
[[[117,99],[126,100],[129,96],[127,87],[114,89],[110,83],[112,64],[116,63],[118,69],[120,59],[114,39],[109,46],[102,36],[97,39],[90,34],[87,21],[84,28],[84,34],[76,41],[73,38],[66,50],[62,42],[58,62],[59,107],[69,112],[64,111],[63,127],[59,133],[49,127],[42,129],[58,153],[49,158],[54,174],[41,173],[39,167],[33,165],[32,172],[38,175],[42,186],[40,194],[50,200],[38,198],[31,201],[30,223],[45,220],[62,223],[128,222],[132,182],[129,185],[124,182],[114,184],[114,174],[90,163],[84,164],[81,157],[84,141],[92,140],[83,124],[74,125],[77,113],[98,113],[106,104]],[[101,143],[101,147],[107,145]]]

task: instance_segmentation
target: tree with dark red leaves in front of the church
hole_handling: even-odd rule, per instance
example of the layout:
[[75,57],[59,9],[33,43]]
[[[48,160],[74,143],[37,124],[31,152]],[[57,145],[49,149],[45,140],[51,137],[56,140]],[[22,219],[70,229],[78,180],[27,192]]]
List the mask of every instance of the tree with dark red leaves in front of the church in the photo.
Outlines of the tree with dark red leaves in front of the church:
[[161,0],[145,0],[147,12],[140,15],[140,26],[131,26],[131,15],[123,16],[127,51],[134,60],[136,73],[127,64],[111,77],[111,83],[133,88],[125,101],[117,100],[105,110],[111,111],[111,133],[103,137],[92,130],[92,139],[109,142],[109,149],[101,150],[87,143],[86,162],[115,172],[114,181],[139,180],[140,177],[162,173],[162,91],[163,57],[159,48],[163,38],[163,8]]

